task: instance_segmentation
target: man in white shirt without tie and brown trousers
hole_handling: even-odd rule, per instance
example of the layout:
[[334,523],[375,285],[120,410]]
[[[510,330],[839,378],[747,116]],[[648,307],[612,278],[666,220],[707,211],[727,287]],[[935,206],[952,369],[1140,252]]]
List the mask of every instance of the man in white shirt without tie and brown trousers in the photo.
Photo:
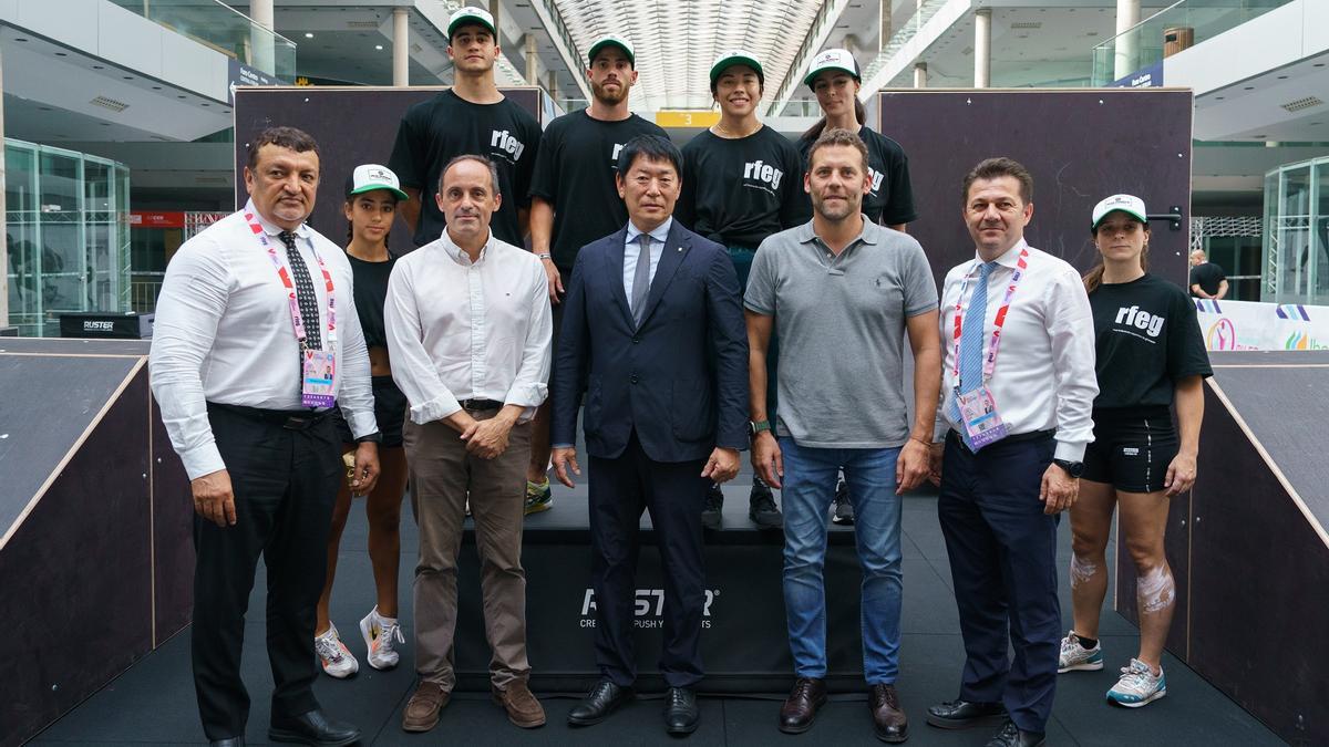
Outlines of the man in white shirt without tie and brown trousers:
[[504,195],[492,161],[459,156],[443,170],[443,237],[397,261],[384,324],[392,377],[411,403],[403,431],[420,526],[416,671],[401,719],[428,731],[456,685],[457,550],[466,496],[476,520],[494,702],[525,728],[545,723],[526,686],[522,502],[530,419],[548,396],[549,283],[536,255],[493,237]]

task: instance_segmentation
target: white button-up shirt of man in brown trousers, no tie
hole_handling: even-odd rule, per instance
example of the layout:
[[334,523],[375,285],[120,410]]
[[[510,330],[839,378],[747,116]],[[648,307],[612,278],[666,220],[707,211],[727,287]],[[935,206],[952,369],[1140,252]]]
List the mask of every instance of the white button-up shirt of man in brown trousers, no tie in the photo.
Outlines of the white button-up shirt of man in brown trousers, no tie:
[[473,263],[447,231],[397,259],[384,326],[413,423],[448,417],[468,399],[521,405],[526,421],[549,396],[545,267],[492,233]]

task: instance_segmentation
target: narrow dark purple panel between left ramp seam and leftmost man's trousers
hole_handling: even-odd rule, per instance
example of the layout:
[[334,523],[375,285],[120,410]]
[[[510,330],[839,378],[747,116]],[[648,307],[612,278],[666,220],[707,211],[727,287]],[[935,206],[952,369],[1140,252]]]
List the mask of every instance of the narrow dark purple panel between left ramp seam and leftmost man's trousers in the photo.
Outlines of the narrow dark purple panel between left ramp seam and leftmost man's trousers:
[[194,502],[189,475],[170,445],[157,400],[149,420],[153,441],[153,545],[155,548],[154,646],[189,625],[194,605]]

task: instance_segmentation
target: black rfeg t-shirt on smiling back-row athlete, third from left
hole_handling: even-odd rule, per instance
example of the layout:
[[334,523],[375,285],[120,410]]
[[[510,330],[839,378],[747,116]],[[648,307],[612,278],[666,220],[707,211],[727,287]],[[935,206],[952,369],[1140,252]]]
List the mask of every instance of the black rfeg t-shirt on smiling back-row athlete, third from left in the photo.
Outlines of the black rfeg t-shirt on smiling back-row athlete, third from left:
[[756,249],[766,237],[812,219],[803,158],[766,125],[739,140],[706,130],[683,146],[683,193],[674,215],[711,241]]

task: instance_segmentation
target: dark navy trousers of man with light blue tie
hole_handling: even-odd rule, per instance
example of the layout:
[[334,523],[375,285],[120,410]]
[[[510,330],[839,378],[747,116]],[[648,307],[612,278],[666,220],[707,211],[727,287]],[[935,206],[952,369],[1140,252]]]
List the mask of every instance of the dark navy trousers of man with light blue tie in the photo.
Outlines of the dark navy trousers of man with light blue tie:
[[1055,449],[1046,435],[973,453],[950,432],[937,498],[965,639],[960,699],[1003,703],[1015,726],[1039,732],[1053,712],[1062,637],[1059,517],[1038,500]]

